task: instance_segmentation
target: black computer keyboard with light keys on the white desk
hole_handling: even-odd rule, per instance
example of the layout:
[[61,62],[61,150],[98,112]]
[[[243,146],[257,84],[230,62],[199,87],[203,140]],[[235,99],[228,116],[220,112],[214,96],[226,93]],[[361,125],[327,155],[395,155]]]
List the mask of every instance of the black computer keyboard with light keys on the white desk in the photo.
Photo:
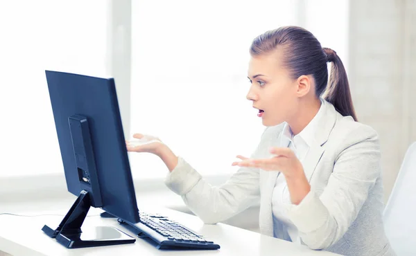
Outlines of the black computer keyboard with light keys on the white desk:
[[140,212],[140,222],[130,223],[121,218],[119,223],[142,239],[153,241],[159,250],[198,249],[216,250],[220,246],[205,239],[180,223],[169,220],[159,214]]

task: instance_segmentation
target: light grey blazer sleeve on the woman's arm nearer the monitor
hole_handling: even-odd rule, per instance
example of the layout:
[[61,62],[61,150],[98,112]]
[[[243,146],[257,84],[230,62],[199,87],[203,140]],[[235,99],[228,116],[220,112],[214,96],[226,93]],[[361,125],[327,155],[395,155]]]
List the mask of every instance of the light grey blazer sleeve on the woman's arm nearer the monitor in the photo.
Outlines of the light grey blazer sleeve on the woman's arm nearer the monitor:
[[[251,157],[257,156],[261,149],[259,143]],[[182,196],[188,208],[204,223],[229,219],[259,202],[260,198],[258,168],[241,167],[226,183],[216,187],[179,157],[177,166],[166,176],[165,184]]]

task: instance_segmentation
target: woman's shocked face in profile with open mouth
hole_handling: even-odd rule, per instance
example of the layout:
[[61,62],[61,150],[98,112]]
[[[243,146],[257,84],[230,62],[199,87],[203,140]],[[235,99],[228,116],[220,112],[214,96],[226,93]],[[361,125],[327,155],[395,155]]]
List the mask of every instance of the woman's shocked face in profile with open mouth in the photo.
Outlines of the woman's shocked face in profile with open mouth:
[[[248,65],[251,82],[247,99],[259,109],[263,125],[274,126],[294,116],[297,109],[297,81],[281,65],[279,51],[252,56]],[[261,111],[263,111],[261,113]]]

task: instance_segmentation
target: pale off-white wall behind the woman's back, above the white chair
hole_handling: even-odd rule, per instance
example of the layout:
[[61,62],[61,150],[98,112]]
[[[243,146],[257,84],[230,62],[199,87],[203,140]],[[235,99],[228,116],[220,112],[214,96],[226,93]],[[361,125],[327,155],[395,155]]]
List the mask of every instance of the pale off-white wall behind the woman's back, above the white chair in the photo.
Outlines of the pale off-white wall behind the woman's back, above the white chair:
[[416,140],[416,1],[350,1],[349,82],[358,120],[379,133],[385,201]]

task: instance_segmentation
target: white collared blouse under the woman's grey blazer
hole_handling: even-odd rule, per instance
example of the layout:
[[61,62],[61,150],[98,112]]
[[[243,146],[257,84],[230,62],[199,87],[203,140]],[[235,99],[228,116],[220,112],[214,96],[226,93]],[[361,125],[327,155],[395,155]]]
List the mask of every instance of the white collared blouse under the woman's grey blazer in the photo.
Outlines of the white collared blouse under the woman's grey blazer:
[[[311,140],[314,139],[313,134],[315,129],[319,129],[319,119],[322,116],[322,106],[324,104],[324,100],[321,100],[321,107],[318,113],[299,134],[293,136],[291,127],[289,127],[287,123],[286,125],[284,125],[284,129],[282,131],[283,136],[281,136],[281,145],[287,145],[287,147],[292,149],[301,163],[309,151],[309,145],[311,145]],[[300,244],[297,228],[293,224],[291,219],[289,219],[288,217],[288,207],[291,204],[291,196],[288,191],[286,179],[284,178],[283,174],[279,173],[272,194],[273,219],[278,219],[279,221],[284,223],[287,227],[288,234],[291,237],[292,241],[297,244]]]

